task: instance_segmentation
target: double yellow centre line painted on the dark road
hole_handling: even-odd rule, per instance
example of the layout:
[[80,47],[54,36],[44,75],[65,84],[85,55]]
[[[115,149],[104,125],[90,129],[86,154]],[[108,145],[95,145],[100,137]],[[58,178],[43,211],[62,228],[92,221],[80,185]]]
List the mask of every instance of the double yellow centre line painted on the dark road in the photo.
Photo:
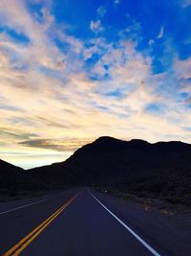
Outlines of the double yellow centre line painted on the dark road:
[[60,215],[64,209],[78,196],[79,192],[75,194],[73,198],[67,201],[64,205],[62,205],[53,215],[51,215],[47,220],[43,221],[36,228],[32,230],[29,235],[27,235],[24,239],[22,239],[19,243],[15,244],[8,250],[3,256],[17,256],[19,255],[32,241],[58,216]]

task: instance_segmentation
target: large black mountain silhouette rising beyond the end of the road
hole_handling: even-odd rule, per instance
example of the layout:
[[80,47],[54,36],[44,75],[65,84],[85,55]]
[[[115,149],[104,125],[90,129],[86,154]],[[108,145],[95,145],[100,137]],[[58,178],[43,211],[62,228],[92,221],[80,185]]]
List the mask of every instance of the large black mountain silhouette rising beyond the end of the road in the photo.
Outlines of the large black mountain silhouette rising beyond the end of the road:
[[105,186],[139,196],[187,202],[191,198],[190,161],[190,144],[151,144],[104,136],[81,147],[66,161],[29,170],[28,178],[36,186]]

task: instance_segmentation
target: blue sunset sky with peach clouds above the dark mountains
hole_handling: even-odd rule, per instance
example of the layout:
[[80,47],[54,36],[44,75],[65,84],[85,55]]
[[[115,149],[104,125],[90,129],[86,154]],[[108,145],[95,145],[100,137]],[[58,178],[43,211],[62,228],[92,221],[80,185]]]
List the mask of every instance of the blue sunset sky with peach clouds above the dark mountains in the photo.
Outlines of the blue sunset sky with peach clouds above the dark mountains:
[[1,0],[0,158],[99,136],[191,143],[191,0]]

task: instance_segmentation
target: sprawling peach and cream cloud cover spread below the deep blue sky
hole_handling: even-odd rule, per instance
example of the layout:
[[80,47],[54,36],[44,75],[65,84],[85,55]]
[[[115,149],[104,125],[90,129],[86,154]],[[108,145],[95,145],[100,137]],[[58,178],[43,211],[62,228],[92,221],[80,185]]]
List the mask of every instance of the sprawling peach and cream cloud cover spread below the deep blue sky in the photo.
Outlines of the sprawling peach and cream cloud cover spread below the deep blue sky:
[[[39,16],[21,0],[0,1],[0,21],[29,38],[1,33],[1,157],[28,167],[28,160],[31,167],[61,161],[101,135],[190,141],[182,130],[191,123],[190,58],[153,74],[152,57],[138,50],[138,21],[115,42],[101,34],[100,19],[90,24],[96,36],[82,40],[68,35],[47,5]],[[162,119],[155,105],[155,115],[145,111],[153,103],[165,109]]]

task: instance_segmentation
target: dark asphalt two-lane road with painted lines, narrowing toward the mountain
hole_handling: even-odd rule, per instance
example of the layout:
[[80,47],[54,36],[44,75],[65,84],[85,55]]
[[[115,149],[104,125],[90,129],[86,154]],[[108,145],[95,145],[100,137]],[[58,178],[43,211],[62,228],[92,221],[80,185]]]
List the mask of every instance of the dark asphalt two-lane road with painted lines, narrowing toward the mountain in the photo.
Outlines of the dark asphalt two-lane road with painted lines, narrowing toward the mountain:
[[13,206],[0,207],[0,255],[191,255],[166,217],[88,188]]

